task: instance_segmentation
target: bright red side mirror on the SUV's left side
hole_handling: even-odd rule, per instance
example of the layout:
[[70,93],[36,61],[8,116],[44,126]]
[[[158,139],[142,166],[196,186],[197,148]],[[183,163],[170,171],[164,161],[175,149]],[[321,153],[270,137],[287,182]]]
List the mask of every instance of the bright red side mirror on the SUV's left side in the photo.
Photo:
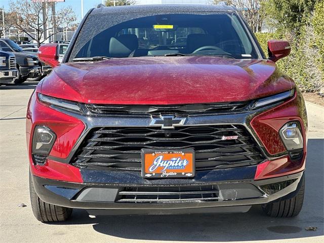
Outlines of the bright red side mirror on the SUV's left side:
[[58,44],[45,44],[38,49],[38,59],[51,67],[57,66],[59,62]]

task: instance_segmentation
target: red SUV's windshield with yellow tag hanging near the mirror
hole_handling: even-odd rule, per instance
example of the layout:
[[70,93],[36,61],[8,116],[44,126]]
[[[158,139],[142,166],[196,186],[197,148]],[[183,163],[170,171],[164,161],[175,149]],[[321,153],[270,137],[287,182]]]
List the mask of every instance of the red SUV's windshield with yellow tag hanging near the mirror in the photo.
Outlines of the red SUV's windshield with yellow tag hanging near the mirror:
[[[177,53],[235,59],[261,58],[243,23],[233,13],[164,14],[141,18],[133,16],[133,19],[120,22],[118,16],[114,19],[111,15],[109,20],[115,24],[105,21],[105,15],[101,15],[100,25],[97,20],[99,15],[88,17],[70,60]],[[127,17],[120,19],[125,20]]]

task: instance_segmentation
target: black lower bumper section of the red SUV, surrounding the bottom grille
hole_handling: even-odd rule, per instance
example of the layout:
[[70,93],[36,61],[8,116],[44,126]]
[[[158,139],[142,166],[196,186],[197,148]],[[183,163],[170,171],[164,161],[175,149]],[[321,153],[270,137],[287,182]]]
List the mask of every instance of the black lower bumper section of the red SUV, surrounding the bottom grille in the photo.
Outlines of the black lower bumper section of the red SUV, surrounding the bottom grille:
[[[130,178],[128,173],[119,173],[121,177]],[[213,181],[216,178],[200,178],[187,180],[186,186],[215,185],[219,191],[219,198],[214,201],[163,201],[150,203],[123,203],[119,202],[118,192],[125,187],[134,187],[135,184],[103,184],[103,183],[71,183],[44,179],[32,176],[37,195],[46,203],[69,208],[87,209],[90,214],[164,214],[164,213],[195,213],[195,212],[247,212],[252,205],[267,204],[278,198],[294,194],[298,189],[303,172],[271,179]],[[134,176],[134,175],[133,175]],[[174,179],[152,180],[154,186],[184,185],[184,181]],[[194,184],[192,182],[194,181]],[[287,187],[280,188],[272,194],[267,194],[263,185],[293,181]],[[143,186],[144,184],[137,184]],[[152,186],[146,185],[145,186]],[[294,196],[294,195],[292,195]],[[230,207],[230,208],[229,208]],[[211,209],[218,208],[217,210]],[[98,211],[99,210],[99,211]],[[100,210],[108,210],[101,212]]]

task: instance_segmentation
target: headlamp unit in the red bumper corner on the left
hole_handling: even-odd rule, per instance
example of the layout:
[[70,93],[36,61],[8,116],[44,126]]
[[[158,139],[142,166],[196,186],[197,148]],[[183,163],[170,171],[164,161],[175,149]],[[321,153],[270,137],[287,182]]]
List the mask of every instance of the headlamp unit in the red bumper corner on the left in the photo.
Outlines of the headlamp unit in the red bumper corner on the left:
[[56,134],[46,126],[36,126],[32,137],[32,153],[48,155],[56,140]]

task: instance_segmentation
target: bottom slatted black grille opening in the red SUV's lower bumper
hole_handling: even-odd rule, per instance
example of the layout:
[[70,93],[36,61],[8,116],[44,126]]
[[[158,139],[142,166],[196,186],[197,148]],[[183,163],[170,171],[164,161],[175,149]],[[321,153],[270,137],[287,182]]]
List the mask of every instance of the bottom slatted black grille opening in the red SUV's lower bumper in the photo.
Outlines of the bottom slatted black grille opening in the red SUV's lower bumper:
[[167,201],[216,201],[219,189],[203,186],[142,186],[126,187],[118,192],[117,203],[165,203]]

